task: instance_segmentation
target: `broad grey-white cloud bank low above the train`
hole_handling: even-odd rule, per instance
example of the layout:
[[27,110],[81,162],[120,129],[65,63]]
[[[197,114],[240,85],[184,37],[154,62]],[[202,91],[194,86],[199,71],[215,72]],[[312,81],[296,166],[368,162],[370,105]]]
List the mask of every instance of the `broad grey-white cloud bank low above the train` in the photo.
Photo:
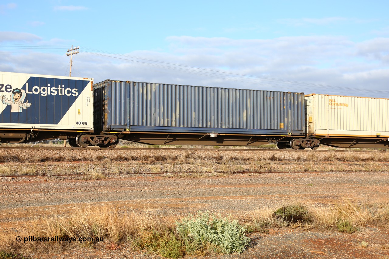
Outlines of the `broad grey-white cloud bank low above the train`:
[[[388,94],[362,91],[387,90],[389,63],[384,55],[387,40],[355,43],[344,37],[235,40],[182,36],[168,37],[169,51],[139,50],[121,55],[120,59],[83,53],[81,46],[80,53],[73,57],[72,74],[94,77],[95,82],[133,80],[389,98]],[[60,39],[51,42],[63,45]],[[13,72],[52,75],[67,75],[69,71],[70,59],[65,54],[4,53],[3,56],[6,57],[0,64],[3,71],[11,68]]]

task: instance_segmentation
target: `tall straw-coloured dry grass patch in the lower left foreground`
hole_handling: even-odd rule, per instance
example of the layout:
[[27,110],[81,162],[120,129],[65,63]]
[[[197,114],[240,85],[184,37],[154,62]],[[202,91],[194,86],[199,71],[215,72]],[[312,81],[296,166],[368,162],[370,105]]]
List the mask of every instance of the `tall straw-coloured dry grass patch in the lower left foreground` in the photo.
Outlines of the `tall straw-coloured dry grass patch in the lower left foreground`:
[[[52,211],[47,217],[33,218],[16,224],[17,236],[61,237],[61,238],[103,238],[104,241],[118,244],[136,237],[144,231],[159,231],[169,222],[149,212],[118,212],[113,206],[74,206],[67,215]],[[76,245],[93,245],[91,242],[18,242],[15,232],[8,231],[0,236],[0,250],[5,251],[59,251]]]

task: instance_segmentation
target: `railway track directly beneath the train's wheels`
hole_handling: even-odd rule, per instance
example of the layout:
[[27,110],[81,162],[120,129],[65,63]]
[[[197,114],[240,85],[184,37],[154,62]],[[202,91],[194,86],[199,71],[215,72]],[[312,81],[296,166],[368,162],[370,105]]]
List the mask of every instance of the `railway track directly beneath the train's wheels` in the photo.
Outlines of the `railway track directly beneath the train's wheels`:
[[[269,152],[311,152],[311,149],[305,149],[305,150],[294,150],[294,149],[212,149],[212,148],[139,148],[139,147],[116,147],[115,149],[100,149],[96,147],[0,147],[0,149],[10,149],[10,150],[23,150],[23,149],[28,149],[28,150],[75,150],[75,149],[83,149],[83,150],[187,150],[187,151],[269,151]],[[380,152],[380,153],[385,153],[387,150],[315,150],[314,152]]]

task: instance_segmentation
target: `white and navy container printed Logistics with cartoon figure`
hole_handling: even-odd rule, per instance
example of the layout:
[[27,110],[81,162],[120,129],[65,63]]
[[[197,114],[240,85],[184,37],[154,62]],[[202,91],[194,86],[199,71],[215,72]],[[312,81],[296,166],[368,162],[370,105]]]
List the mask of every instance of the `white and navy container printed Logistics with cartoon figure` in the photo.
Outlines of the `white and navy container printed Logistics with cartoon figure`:
[[93,79],[0,72],[0,127],[93,129]]

